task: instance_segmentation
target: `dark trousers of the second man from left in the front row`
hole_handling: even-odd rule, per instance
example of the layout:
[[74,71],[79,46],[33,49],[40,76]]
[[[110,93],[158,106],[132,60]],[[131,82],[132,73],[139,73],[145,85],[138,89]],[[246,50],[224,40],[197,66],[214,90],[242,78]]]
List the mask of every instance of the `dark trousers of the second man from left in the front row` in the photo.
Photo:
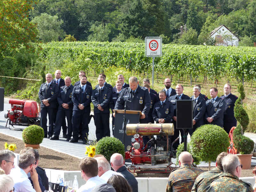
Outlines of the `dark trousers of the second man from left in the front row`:
[[[63,110],[58,109],[57,115],[56,115],[56,122],[55,126],[53,128],[53,134],[59,136],[62,122],[66,122],[66,117],[68,121],[68,134],[67,137],[70,138],[72,136],[72,111],[71,110]],[[63,127],[62,127],[63,128]],[[66,132],[67,133],[67,132]],[[64,133],[63,133],[64,135]]]

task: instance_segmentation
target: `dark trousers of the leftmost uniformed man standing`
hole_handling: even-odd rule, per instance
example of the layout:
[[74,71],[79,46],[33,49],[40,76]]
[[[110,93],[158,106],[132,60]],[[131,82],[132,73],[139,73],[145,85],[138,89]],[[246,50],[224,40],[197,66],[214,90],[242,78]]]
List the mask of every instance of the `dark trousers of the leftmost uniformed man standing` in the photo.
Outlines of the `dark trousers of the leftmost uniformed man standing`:
[[52,137],[53,134],[53,108],[43,107],[41,108],[41,127],[44,129],[44,136],[47,136],[47,114],[49,117],[49,131],[48,135]]

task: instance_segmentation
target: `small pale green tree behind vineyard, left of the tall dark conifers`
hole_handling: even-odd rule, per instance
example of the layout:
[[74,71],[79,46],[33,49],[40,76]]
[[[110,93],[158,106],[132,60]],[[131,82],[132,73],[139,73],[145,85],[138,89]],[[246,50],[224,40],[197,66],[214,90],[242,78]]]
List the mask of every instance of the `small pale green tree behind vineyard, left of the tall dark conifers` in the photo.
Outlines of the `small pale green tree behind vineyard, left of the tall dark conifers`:
[[103,24],[92,24],[90,28],[92,34],[88,36],[88,41],[108,41],[110,29],[108,26],[104,26]]

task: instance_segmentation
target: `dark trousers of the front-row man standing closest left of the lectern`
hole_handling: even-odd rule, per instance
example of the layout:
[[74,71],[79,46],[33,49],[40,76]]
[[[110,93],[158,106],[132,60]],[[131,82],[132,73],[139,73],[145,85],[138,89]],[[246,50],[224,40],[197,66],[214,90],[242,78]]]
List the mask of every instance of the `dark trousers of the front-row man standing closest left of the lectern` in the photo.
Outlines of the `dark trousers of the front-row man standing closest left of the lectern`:
[[94,113],[94,124],[97,141],[106,136],[110,137],[109,113]]

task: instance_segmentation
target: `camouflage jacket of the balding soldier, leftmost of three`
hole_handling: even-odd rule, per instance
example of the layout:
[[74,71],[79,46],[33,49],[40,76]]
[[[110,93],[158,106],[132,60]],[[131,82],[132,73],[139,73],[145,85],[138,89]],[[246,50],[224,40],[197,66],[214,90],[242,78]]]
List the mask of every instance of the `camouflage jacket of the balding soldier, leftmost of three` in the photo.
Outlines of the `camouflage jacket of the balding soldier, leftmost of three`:
[[194,167],[192,164],[181,165],[180,168],[173,170],[169,175],[166,192],[190,192],[196,177],[201,172],[203,172],[201,169]]

